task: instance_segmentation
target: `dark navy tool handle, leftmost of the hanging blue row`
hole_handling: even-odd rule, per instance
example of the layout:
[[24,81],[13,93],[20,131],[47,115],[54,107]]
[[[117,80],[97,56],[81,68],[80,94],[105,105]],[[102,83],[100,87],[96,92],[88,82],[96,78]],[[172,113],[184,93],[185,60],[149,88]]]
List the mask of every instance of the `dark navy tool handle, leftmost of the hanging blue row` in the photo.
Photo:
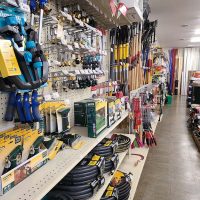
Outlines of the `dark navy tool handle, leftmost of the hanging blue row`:
[[16,108],[15,92],[9,94],[8,105],[6,108],[5,121],[13,121]]

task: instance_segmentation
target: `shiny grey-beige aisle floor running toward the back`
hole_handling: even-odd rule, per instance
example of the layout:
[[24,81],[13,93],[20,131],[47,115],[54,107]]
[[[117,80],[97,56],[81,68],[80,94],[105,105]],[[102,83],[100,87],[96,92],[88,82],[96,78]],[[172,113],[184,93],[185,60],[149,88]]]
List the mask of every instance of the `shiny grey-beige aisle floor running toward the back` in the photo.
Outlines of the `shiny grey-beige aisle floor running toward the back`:
[[134,200],[199,200],[200,154],[186,120],[186,98],[173,97],[158,123]]

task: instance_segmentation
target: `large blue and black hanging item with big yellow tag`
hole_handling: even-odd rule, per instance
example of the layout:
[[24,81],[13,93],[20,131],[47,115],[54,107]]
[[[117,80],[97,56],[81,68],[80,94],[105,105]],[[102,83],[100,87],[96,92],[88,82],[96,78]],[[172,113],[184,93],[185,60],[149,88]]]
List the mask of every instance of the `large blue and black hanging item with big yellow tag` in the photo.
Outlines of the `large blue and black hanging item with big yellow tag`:
[[[48,79],[48,62],[38,42],[37,33],[17,8],[0,6],[0,82],[2,91],[32,90]],[[25,43],[26,41],[26,43]]]

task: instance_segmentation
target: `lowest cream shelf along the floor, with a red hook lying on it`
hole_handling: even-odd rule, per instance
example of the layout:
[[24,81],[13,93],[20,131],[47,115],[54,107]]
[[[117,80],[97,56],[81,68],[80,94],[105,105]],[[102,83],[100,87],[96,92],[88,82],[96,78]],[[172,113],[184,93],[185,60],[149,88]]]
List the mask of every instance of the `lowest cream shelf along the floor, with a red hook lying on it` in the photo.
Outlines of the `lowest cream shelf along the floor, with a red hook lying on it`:
[[[156,126],[158,124],[158,119],[159,119],[159,116],[156,117],[155,122],[152,124],[153,132],[155,132],[155,130],[156,130]],[[152,147],[152,148],[154,148],[154,147]],[[135,163],[139,160],[139,157],[134,156],[134,155],[129,155],[129,156],[125,157],[124,162],[119,167],[119,170],[126,172],[126,173],[131,172],[133,174],[132,187],[131,187],[129,200],[134,199],[134,196],[135,196],[135,193],[137,190],[137,186],[138,186],[138,183],[140,180],[140,176],[142,174],[142,170],[143,170],[143,167],[145,165],[145,162],[146,162],[146,159],[147,159],[147,156],[149,153],[149,148],[147,148],[147,147],[135,148],[135,149],[131,150],[131,153],[143,155],[144,160],[139,162],[139,164],[137,166],[135,166]]]

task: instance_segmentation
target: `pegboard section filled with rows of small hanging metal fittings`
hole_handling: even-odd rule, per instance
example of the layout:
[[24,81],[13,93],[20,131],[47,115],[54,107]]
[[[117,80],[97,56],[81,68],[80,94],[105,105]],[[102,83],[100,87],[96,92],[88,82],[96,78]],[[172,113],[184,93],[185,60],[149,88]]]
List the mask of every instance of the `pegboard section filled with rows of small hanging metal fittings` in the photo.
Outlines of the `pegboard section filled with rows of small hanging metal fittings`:
[[[60,99],[70,100],[70,121],[73,125],[74,102],[91,97],[90,87],[83,86],[80,89],[81,81],[97,79],[99,83],[108,80],[109,66],[105,56],[108,37],[89,25],[86,26],[87,30],[84,30],[78,19],[77,23],[73,24],[72,15],[61,11],[80,10],[77,5],[68,7],[62,1],[51,1],[49,8],[52,10],[51,14],[44,18],[42,44],[50,64],[50,77],[48,87],[42,92],[43,95],[58,92]],[[64,77],[56,72],[64,73]],[[69,75],[67,78],[66,74]],[[77,77],[75,80],[73,75]]]

